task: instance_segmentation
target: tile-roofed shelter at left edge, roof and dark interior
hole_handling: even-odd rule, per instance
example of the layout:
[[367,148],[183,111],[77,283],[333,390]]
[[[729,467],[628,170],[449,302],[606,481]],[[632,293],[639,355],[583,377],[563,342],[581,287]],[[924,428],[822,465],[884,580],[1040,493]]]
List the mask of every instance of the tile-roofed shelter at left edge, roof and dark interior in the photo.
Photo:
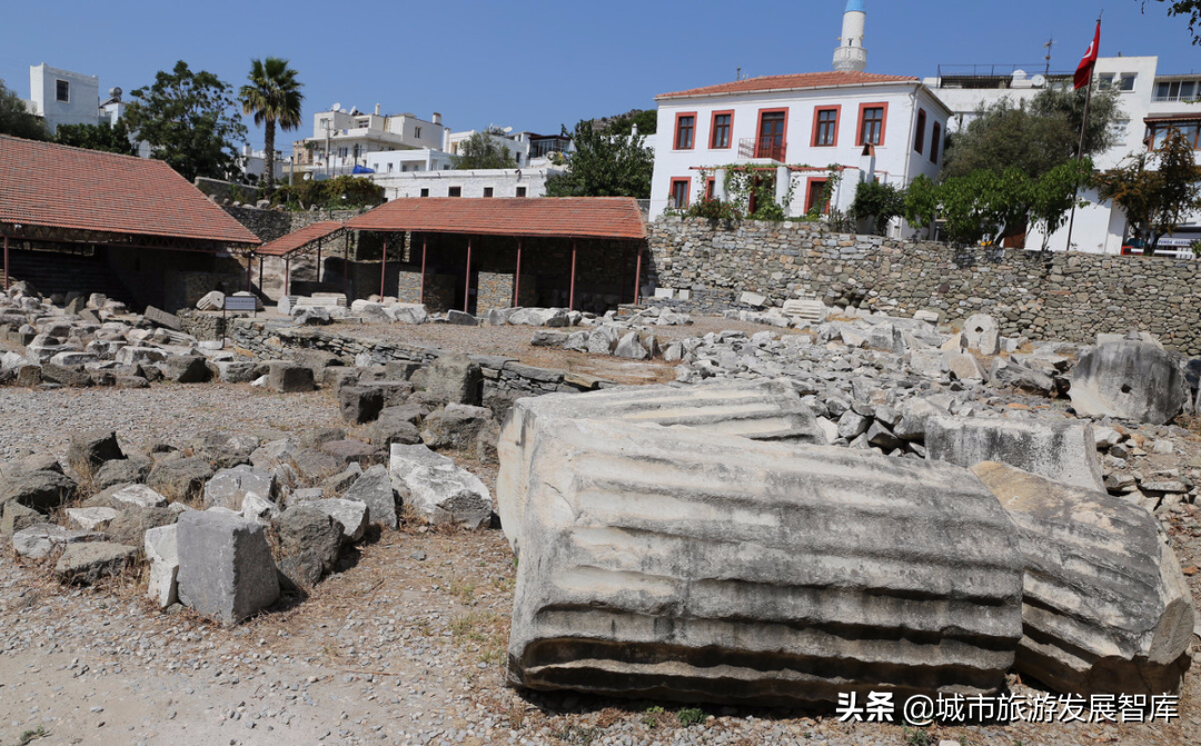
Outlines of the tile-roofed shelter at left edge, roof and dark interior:
[[220,277],[233,284],[228,255],[261,243],[163,161],[7,136],[0,235],[5,286],[177,308]]

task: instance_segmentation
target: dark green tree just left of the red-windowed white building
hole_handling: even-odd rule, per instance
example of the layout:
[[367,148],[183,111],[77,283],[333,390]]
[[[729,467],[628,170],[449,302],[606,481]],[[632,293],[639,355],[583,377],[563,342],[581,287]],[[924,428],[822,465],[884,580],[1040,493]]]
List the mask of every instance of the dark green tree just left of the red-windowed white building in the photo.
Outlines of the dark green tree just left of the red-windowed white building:
[[[567,127],[562,129],[567,135]],[[655,156],[638,137],[609,135],[592,129],[590,120],[575,125],[575,151],[567,172],[546,180],[550,197],[635,197],[649,199]]]

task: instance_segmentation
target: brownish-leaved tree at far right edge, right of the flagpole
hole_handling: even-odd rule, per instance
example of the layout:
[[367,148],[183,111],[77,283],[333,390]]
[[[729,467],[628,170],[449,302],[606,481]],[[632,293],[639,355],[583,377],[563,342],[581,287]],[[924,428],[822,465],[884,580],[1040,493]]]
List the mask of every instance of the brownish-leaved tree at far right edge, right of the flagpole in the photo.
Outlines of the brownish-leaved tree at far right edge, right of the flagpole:
[[1112,199],[1147,240],[1143,250],[1155,253],[1159,239],[1171,235],[1185,216],[1201,209],[1201,171],[1193,144],[1171,131],[1164,147],[1140,153],[1117,168],[1100,173],[1095,186],[1101,199]]

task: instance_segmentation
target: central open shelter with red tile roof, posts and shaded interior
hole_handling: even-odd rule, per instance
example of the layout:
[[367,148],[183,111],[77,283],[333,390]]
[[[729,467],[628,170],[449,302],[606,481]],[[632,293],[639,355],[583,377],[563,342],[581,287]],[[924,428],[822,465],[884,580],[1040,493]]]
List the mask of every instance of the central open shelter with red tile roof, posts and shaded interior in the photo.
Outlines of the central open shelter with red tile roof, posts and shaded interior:
[[639,294],[646,225],[629,197],[394,199],[346,225],[383,234],[382,296],[432,310],[600,311]]

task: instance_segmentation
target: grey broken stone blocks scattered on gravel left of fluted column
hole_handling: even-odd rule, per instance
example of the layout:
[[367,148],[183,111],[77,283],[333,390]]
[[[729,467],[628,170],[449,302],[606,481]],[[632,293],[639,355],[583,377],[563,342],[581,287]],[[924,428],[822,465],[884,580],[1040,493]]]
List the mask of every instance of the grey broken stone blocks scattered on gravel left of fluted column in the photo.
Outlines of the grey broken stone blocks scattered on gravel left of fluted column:
[[[313,368],[328,369],[309,363],[287,370],[311,381]],[[235,625],[337,572],[343,549],[366,541],[371,524],[398,527],[402,506],[430,523],[491,525],[489,490],[420,444],[418,430],[428,425],[434,448],[471,455],[491,437],[495,453],[492,410],[464,404],[482,401],[479,365],[446,356],[420,371],[396,366],[398,376],[420,372],[419,392],[405,378],[383,378],[387,369],[352,370],[365,380],[341,388],[343,416],[362,419],[347,402],[375,392],[388,406],[374,417],[408,431],[378,444],[330,428],[268,442],[210,431],[145,455],[126,453],[112,430],[82,431],[70,438],[66,466],[48,455],[0,464],[0,530],[19,557],[54,560],[64,583],[96,583],[144,559],[147,593],[160,607],[178,602]],[[89,496],[100,475],[127,481]],[[58,514],[66,525],[54,523]]]

